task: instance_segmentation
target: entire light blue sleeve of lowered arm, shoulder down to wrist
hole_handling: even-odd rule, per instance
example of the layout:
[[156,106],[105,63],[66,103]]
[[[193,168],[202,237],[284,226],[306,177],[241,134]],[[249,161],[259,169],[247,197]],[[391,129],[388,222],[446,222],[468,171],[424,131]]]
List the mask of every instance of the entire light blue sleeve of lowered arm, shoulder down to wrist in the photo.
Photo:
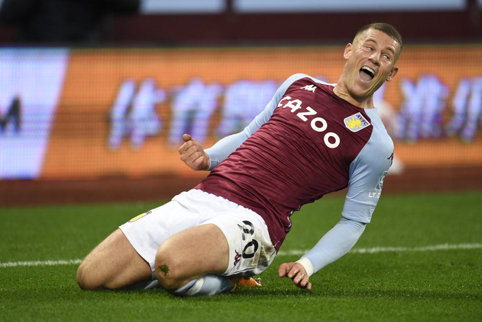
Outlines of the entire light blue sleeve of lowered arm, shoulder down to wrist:
[[[358,241],[380,198],[383,180],[392,164],[393,142],[376,109],[366,111],[374,130],[367,144],[350,165],[348,192],[342,219],[300,259],[313,272],[345,255]],[[304,258],[308,259],[308,263]],[[305,267],[307,271],[310,268]]]

